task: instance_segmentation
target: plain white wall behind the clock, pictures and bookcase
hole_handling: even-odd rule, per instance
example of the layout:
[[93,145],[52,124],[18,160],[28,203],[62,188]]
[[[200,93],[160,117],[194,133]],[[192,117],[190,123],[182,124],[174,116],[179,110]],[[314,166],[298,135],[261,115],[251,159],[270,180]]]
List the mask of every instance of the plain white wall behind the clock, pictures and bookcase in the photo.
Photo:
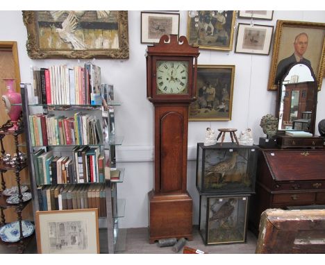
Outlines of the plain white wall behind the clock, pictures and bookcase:
[[[168,9],[168,8],[167,8]],[[180,34],[186,35],[187,12],[180,11]],[[256,24],[276,26],[276,20],[325,22],[325,11],[274,11],[272,21],[256,20]],[[238,19],[249,23],[249,20]],[[21,11],[0,11],[0,41],[18,43],[22,82],[30,83],[29,66],[76,65],[76,60],[31,60],[26,53],[26,28]],[[125,167],[124,182],[118,185],[119,198],[126,198],[125,217],[121,228],[146,227],[148,224],[147,193],[153,187],[153,107],[146,98],[144,53],[147,45],[140,44],[140,12],[128,12],[130,58],[128,60],[98,59],[103,83],[115,86],[115,99],[123,105],[116,107],[117,133],[124,135],[123,145],[117,148],[117,162]],[[235,40],[234,40],[235,41]],[[235,43],[235,42],[234,42]],[[273,42],[272,42],[273,46]],[[276,92],[267,91],[271,55],[249,55],[222,51],[200,50],[200,65],[235,65],[233,114],[231,121],[192,121],[188,137],[188,191],[194,201],[193,222],[199,222],[199,195],[195,188],[196,146],[203,142],[206,127],[252,128],[254,142],[264,137],[260,118],[274,114]],[[272,51],[271,51],[272,53]],[[325,86],[318,94],[316,124],[325,117]],[[318,133],[318,130],[315,130]],[[230,139],[226,139],[230,140]]]

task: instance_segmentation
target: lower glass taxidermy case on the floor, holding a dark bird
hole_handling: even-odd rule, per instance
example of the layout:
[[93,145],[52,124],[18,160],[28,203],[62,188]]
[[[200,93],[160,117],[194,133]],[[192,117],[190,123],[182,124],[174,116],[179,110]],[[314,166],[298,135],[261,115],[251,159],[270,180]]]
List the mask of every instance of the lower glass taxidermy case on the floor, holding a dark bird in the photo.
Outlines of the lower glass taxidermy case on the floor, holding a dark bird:
[[249,196],[200,196],[199,232],[203,243],[244,243]]

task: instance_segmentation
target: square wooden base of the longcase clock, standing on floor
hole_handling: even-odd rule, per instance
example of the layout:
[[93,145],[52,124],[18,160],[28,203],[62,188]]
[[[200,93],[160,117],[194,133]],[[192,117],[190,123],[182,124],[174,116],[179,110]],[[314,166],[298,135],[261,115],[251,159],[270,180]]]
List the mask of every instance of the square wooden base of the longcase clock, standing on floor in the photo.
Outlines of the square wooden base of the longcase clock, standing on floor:
[[192,198],[185,194],[149,194],[149,243],[185,237],[192,241]]

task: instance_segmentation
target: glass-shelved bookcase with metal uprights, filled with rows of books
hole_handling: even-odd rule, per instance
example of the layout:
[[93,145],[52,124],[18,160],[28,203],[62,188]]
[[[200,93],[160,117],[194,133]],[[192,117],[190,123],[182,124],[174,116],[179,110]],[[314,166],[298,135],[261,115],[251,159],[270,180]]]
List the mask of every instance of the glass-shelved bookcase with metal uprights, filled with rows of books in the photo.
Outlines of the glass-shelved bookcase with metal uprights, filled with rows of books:
[[[81,82],[86,87],[80,93],[86,95],[80,94],[80,101],[76,95],[72,101],[68,91],[65,99],[47,88],[43,91],[44,82],[34,101],[35,87],[21,86],[33,205],[35,212],[97,208],[100,252],[114,253],[125,202],[117,200],[117,183],[123,181],[124,170],[115,163],[115,146],[122,144],[122,137],[116,137],[110,113],[121,103],[108,98],[100,76],[92,78],[97,79],[97,93],[93,93],[91,80],[84,78]],[[111,180],[111,175],[119,178]]]

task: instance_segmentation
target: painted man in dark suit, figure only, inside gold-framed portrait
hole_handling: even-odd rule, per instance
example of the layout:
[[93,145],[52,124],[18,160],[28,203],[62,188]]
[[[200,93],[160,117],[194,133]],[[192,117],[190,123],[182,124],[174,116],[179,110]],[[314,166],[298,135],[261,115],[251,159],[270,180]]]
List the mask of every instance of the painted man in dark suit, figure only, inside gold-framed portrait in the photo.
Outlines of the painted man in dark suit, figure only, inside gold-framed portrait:
[[[288,58],[284,58],[280,62],[278,62],[278,67],[276,69],[276,78],[274,83],[278,84],[279,81],[281,81],[281,78],[285,74],[285,72],[288,70],[288,67],[290,65],[296,63],[296,62],[305,62],[307,65],[310,65],[310,60],[307,58],[304,58],[304,54],[307,51],[308,48],[308,35],[307,33],[299,33],[294,38],[294,52],[292,55],[290,55]],[[311,66],[311,65],[310,65]]]

